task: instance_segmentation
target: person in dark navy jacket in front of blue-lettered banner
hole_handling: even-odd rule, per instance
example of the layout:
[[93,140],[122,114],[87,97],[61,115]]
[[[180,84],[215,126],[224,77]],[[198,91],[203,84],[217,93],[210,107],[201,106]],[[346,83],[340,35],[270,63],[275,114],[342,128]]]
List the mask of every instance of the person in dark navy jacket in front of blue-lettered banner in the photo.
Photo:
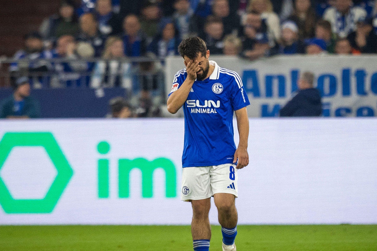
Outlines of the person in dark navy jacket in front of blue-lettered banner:
[[314,117],[322,115],[319,90],[313,88],[314,74],[304,72],[298,81],[299,91],[283,108],[280,117]]

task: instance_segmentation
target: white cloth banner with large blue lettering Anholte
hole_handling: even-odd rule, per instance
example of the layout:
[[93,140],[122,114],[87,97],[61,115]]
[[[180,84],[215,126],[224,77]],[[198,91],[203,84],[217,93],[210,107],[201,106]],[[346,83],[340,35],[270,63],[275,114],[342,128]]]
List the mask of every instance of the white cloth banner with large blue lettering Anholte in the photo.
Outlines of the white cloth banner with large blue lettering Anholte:
[[[325,117],[377,115],[377,56],[276,56],[248,61],[210,56],[220,67],[236,71],[250,99],[250,117],[274,117],[295,94],[303,71],[316,75]],[[185,68],[182,57],[166,59],[166,93],[174,75]]]

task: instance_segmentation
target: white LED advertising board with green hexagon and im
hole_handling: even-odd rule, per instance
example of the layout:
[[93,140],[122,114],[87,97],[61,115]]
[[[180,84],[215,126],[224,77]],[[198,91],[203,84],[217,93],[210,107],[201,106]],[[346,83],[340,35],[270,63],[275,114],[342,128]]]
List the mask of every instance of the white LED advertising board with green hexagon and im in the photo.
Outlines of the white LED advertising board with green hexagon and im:
[[[183,119],[0,120],[0,224],[190,224],[183,135]],[[251,119],[239,224],[376,224],[376,142],[375,119]]]

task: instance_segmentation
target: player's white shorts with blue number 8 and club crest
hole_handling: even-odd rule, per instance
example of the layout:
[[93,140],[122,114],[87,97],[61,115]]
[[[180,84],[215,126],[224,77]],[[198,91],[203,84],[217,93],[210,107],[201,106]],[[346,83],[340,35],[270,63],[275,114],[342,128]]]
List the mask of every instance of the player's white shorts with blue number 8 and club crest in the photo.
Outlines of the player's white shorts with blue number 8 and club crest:
[[234,164],[184,167],[181,200],[207,199],[215,193],[230,193],[237,197],[237,180],[237,169]]

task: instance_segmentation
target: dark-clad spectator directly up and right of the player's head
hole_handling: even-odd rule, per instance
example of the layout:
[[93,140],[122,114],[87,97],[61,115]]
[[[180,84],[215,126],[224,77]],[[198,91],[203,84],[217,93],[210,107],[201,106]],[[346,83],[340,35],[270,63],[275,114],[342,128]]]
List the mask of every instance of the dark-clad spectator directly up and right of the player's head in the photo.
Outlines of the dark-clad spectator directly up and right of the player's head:
[[202,39],[207,44],[207,49],[212,55],[222,54],[224,43],[224,26],[220,18],[215,16],[208,16],[205,21],[204,34]]

